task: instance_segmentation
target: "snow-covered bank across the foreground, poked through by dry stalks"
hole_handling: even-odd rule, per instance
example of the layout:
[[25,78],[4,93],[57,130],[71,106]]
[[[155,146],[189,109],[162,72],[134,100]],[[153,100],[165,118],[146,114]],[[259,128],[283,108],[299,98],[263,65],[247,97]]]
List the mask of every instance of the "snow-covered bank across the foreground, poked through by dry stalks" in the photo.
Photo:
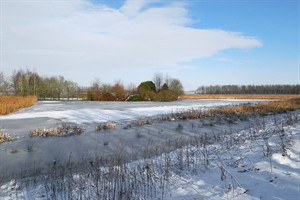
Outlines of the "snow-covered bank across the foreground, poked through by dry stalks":
[[[141,194],[135,196],[130,193],[132,195],[130,199],[297,200],[300,196],[299,120],[293,124],[283,122],[277,125],[284,126],[276,127],[274,123],[267,122],[261,130],[253,126],[251,135],[248,130],[240,131],[231,137],[224,137],[220,143],[199,147],[187,145],[151,159],[138,160],[115,168],[100,167],[98,168],[100,174],[103,172],[103,176],[108,176],[108,178],[99,178],[107,181],[106,184],[112,187],[109,194],[101,192],[99,196],[94,194],[95,177],[88,176],[84,179],[86,185],[71,184],[73,187],[71,194],[67,189],[53,193],[54,190],[51,187],[48,187],[49,191],[46,191],[45,180],[47,178],[40,182],[27,180],[27,185],[11,180],[1,185],[0,198],[3,200],[49,199],[50,197],[112,199],[113,184],[117,184],[118,179],[116,177],[110,179],[109,174],[118,172],[119,176],[125,173],[123,178],[130,179],[132,176],[129,174],[136,173],[136,179],[143,175],[150,179],[148,180],[150,186],[140,182],[139,184],[145,184],[139,191]],[[284,149],[282,145],[286,145]],[[205,152],[207,154],[203,156]],[[205,161],[206,159],[208,162]],[[72,180],[80,182],[81,176],[75,173]],[[58,181],[56,187],[61,187],[60,183],[68,184],[67,178],[66,175],[62,182]],[[144,181],[146,182],[147,178]],[[125,188],[129,187],[128,182],[122,183]],[[52,184],[55,184],[54,180]],[[82,187],[81,190],[80,187]],[[164,192],[160,191],[162,187],[165,189]],[[105,188],[99,190],[105,190]],[[125,193],[128,191],[123,192],[123,199],[126,199]]]

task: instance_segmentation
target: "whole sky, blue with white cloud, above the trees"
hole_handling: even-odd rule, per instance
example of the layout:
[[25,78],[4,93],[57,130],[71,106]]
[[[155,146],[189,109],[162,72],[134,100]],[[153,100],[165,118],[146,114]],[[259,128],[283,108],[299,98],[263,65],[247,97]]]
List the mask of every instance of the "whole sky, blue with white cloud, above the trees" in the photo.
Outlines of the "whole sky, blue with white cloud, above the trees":
[[300,84],[300,2],[1,1],[1,70],[125,85],[156,72],[186,90]]

